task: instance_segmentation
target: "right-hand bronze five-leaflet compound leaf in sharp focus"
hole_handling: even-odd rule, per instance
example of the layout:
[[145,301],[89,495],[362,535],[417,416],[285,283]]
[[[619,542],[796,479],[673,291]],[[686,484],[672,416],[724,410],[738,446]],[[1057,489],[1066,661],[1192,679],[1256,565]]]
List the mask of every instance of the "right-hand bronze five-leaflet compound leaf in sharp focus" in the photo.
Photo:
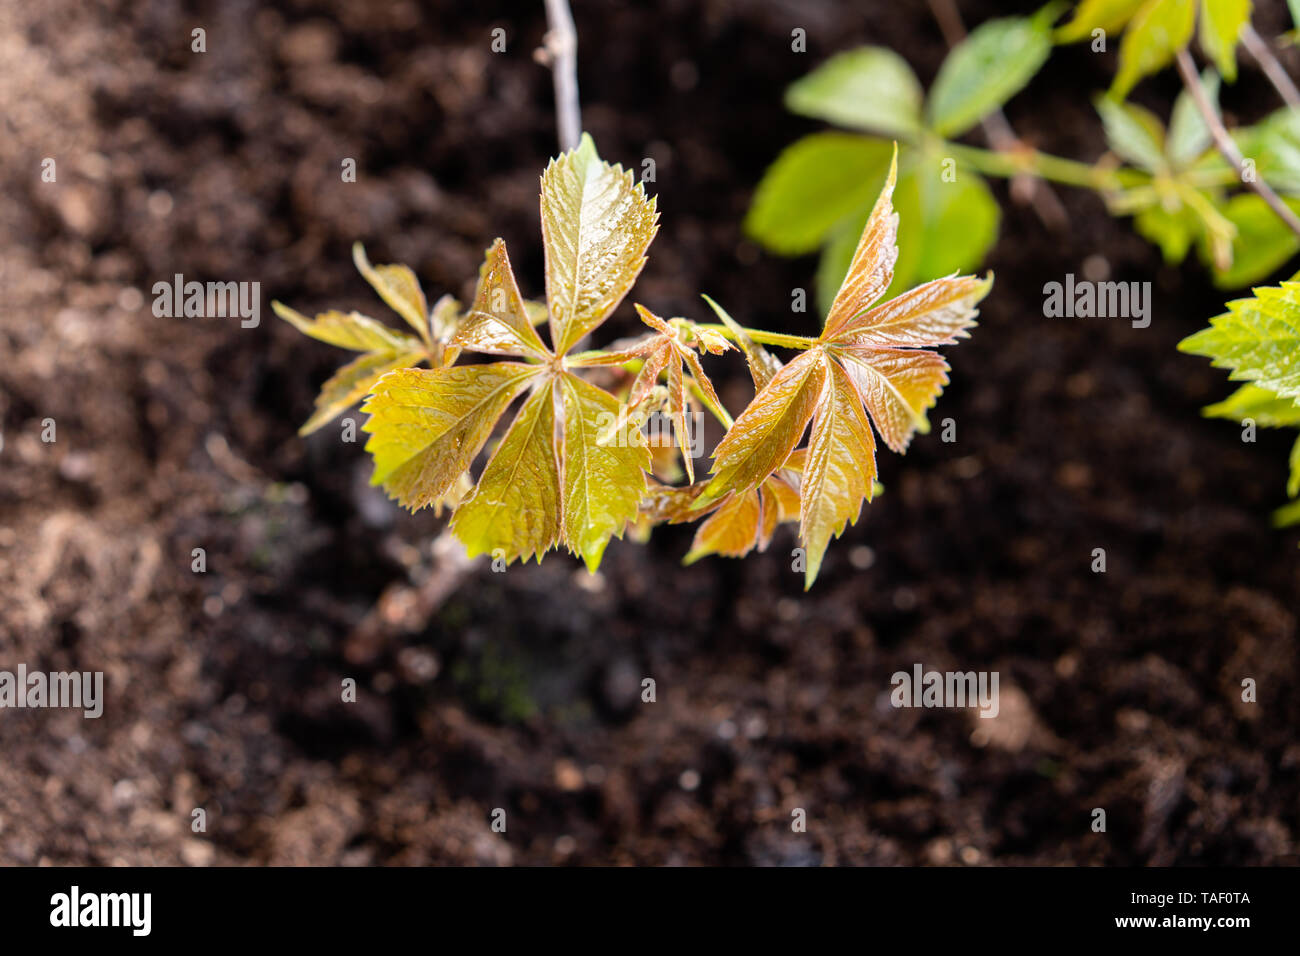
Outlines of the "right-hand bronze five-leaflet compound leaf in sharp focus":
[[822,336],[759,388],[714,450],[712,479],[693,502],[699,510],[727,494],[744,496],[779,467],[790,467],[811,420],[800,488],[805,587],[816,578],[829,538],[872,496],[875,440],[866,414],[889,447],[906,450],[948,382],[948,363],[920,350],[967,337],[975,306],[993,282],[992,276],[952,276],[872,306],[893,281],[897,260],[896,178],[897,157]]

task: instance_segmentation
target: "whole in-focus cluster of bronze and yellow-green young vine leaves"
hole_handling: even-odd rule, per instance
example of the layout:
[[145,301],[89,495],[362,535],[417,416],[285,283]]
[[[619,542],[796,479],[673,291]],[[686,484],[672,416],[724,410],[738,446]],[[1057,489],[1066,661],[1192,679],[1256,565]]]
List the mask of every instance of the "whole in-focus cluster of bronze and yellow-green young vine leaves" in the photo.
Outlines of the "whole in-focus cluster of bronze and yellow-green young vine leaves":
[[[902,454],[927,427],[949,372],[932,349],[968,336],[992,285],[992,276],[949,276],[881,300],[900,256],[897,176],[894,157],[819,336],[742,328],[705,297],[719,323],[666,320],[637,304],[646,334],[581,349],[632,289],[658,225],[644,186],[584,135],[541,177],[545,303],[520,294],[502,239],[488,248],[468,308],[445,295],[430,310],[410,268],[372,267],[354,248],[361,274],[415,334],[356,312],[308,319],[273,303],[307,336],[360,352],[325,382],[300,431],[368,395],[372,484],[412,511],[448,509],[471,557],[541,561],[563,545],[594,572],[611,537],[686,522],[699,522],[688,562],[742,557],[766,549],[780,523],[798,522],[811,587],[831,538],[879,488],[875,433]],[[764,346],[797,354],[781,362]],[[734,419],[701,363],[727,351],[745,356],[755,390]],[[471,354],[491,360],[468,363]],[[710,475],[697,479],[688,415],[701,410],[725,433]],[[676,451],[646,436],[653,415],[672,421]]]

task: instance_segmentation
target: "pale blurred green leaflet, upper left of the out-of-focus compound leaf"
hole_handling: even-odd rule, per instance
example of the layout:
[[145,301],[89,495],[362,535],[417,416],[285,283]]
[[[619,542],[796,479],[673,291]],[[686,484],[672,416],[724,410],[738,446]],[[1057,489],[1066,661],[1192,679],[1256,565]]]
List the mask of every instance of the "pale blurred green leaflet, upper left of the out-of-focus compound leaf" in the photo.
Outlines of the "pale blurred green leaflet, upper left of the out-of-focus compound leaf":
[[902,137],[920,129],[920,83],[884,47],[831,57],[785,91],[785,108],[848,129]]

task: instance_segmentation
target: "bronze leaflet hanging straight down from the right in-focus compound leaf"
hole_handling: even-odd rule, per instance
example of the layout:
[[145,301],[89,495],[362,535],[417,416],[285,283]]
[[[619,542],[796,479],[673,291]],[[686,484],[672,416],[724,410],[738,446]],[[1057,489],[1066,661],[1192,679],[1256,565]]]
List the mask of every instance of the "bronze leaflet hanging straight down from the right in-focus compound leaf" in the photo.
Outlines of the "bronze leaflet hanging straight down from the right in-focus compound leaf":
[[876,442],[862,397],[838,364],[823,359],[826,392],[812,418],[812,436],[800,484],[800,537],[807,549],[803,587],[812,587],[822,558],[849,522],[857,522],[876,477]]

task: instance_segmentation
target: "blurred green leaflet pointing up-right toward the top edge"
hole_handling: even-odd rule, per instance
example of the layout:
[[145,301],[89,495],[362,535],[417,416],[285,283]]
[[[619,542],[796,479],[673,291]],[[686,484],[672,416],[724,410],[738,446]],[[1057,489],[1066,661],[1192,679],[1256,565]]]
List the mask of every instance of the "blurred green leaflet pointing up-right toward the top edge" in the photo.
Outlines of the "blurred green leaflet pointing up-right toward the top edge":
[[991,20],[953,47],[930,90],[930,126],[956,137],[1024,88],[1052,55],[1049,4],[1034,17]]

